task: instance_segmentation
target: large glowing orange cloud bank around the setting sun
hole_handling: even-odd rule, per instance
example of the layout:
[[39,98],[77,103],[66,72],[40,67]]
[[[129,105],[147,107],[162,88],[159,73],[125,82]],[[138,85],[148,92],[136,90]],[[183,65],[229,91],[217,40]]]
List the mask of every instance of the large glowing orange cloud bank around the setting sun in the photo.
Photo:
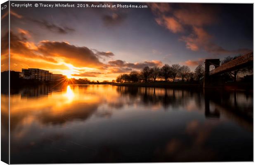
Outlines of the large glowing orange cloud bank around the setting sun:
[[[28,36],[31,37],[29,31],[21,28],[17,31],[16,34],[11,32],[11,58],[13,64],[15,63],[12,68],[15,71],[28,67],[51,71],[71,70],[72,68],[76,73],[73,76],[100,77],[104,73],[128,73],[145,66],[162,66],[162,62],[158,60],[129,63],[117,59],[105,64],[100,61],[100,57],[113,57],[112,52],[92,50],[85,46],[71,45],[69,42],[42,40],[36,44],[27,39]],[[2,41],[6,38],[8,38],[8,33]],[[3,47],[5,47],[4,43],[7,42],[2,42]],[[100,72],[85,72],[84,68],[94,68]]]

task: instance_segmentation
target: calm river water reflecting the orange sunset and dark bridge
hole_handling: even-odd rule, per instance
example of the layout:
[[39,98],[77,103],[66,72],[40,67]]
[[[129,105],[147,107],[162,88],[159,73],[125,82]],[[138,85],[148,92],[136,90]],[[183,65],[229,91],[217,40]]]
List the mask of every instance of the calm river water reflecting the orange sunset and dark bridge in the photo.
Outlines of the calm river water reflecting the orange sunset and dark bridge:
[[250,92],[41,85],[11,93],[11,163],[253,161]]

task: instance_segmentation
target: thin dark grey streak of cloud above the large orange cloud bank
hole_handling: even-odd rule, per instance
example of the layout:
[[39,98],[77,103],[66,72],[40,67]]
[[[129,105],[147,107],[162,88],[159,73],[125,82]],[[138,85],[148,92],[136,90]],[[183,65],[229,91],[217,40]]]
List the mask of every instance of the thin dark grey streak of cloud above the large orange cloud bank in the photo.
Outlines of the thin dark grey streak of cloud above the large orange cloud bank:
[[56,24],[50,23],[46,20],[37,20],[37,19],[30,19],[32,22],[38,24],[40,27],[46,28],[49,31],[60,33],[60,34],[67,34],[70,32],[75,31],[75,29],[67,27],[67,26],[58,26]]

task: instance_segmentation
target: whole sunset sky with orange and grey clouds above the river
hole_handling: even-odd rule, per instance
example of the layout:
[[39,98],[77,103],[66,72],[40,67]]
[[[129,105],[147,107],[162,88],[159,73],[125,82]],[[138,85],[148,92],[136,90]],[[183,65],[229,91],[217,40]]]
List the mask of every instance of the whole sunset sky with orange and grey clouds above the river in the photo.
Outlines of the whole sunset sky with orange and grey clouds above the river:
[[194,71],[205,59],[253,50],[252,4],[102,3],[147,8],[11,7],[10,70],[111,81],[145,66],[180,64]]

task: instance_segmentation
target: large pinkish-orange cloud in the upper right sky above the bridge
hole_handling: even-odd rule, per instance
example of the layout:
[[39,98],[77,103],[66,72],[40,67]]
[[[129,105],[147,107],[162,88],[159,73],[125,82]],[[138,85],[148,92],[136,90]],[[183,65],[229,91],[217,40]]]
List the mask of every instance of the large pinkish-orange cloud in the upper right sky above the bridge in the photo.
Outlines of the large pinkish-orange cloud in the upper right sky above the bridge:
[[249,49],[226,50],[213,42],[213,36],[205,31],[204,26],[218,23],[219,9],[209,4],[174,4],[163,6],[158,3],[149,5],[156,15],[156,23],[164,26],[172,33],[182,33],[180,41],[185,42],[186,48],[192,51],[206,51],[218,54],[244,54]]

